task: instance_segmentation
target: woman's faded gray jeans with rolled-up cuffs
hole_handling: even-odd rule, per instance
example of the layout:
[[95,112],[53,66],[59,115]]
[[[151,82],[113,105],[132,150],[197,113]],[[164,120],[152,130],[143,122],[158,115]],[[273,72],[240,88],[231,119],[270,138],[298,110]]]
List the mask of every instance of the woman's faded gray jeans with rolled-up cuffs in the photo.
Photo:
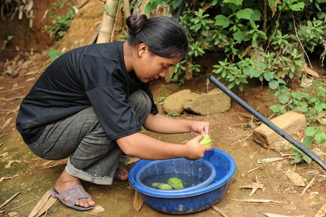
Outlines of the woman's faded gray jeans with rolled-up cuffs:
[[[151,110],[150,98],[137,90],[129,95],[129,103],[143,125]],[[96,184],[112,184],[122,155],[117,142],[107,138],[93,107],[49,124],[28,147],[47,160],[69,157],[66,172]]]

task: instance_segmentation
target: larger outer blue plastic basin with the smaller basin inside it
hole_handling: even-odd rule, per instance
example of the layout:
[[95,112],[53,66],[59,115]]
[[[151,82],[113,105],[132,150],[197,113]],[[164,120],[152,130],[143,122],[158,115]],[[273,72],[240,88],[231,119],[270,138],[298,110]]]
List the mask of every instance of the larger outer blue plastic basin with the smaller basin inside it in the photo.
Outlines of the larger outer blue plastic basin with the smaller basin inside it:
[[[129,172],[129,183],[137,190],[144,202],[162,213],[190,214],[205,210],[216,204],[225,194],[228,182],[235,174],[236,164],[233,158],[218,149],[205,152],[202,158],[211,163],[216,171],[215,178],[210,184],[197,189],[185,191],[148,191],[136,181],[137,172],[153,161],[139,160]],[[187,188],[186,188],[187,189]]]

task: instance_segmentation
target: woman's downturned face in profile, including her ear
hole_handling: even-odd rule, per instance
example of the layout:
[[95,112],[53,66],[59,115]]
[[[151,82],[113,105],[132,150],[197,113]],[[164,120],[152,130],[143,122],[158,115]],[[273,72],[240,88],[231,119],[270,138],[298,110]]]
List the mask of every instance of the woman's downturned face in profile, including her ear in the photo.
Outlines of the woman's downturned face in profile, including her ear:
[[168,68],[176,65],[182,58],[165,58],[150,53],[147,45],[140,44],[138,48],[138,59],[134,60],[132,69],[137,78],[147,83],[153,79],[163,78]]

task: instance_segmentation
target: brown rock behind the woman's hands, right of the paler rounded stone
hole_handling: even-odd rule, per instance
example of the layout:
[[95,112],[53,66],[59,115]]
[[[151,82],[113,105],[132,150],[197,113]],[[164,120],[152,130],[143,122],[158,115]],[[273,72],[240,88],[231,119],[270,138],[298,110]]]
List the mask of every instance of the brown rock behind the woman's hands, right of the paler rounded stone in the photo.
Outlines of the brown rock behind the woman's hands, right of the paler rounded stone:
[[192,101],[186,103],[183,108],[199,115],[206,115],[207,106],[209,114],[223,113],[230,109],[231,98],[222,92],[222,90],[215,88],[208,92],[208,99],[207,93],[202,93]]

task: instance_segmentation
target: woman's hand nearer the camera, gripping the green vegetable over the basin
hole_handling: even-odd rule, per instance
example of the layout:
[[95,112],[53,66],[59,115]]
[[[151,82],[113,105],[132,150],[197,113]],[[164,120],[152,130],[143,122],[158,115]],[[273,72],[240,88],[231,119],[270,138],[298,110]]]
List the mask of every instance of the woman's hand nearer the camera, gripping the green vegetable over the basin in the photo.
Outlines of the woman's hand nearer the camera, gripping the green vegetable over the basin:
[[185,145],[187,146],[187,152],[185,153],[184,158],[188,160],[197,160],[204,157],[205,151],[210,151],[212,149],[211,146],[204,146],[199,143],[203,138],[203,135],[198,135],[186,142]]

